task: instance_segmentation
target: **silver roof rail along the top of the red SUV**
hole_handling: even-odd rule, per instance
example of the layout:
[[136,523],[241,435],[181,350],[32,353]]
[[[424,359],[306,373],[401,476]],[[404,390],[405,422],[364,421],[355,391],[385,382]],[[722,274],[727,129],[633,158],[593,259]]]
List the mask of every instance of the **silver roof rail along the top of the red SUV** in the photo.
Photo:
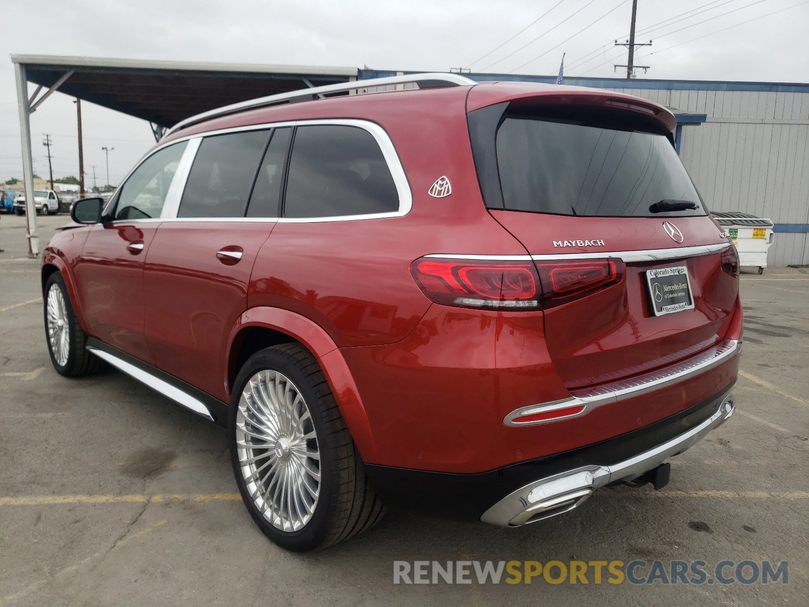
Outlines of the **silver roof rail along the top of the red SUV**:
[[459,74],[430,73],[409,74],[407,76],[389,76],[388,78],[374,78],[367,80],[352,80],[351,82],[347,83],[327,84],[324,87],[302,88],[297,91],[290,91],[288,93],[259,97],[258,99],[248,101],[240,101],[238,104],[225,105],[222,108],[202,112],[196,116],[181,120],[176,125],[172,126],[171,129],[168,129],[163,137],[172,134],[176,130],[184,129],[187,126],[196,125],[200,122],[209,121],[213,118],[227,116],[228,114],[242,112],[248,109],[265,108],[267,106],[276,104],[294,104],[299,101],[324,99],[324,96],[332,93],[355,91],[362,88],[386,87],[392,84],[409,83],[416,83],[418,84],[419,88],[469,87],[477,84],[474,80],[468,79]]

